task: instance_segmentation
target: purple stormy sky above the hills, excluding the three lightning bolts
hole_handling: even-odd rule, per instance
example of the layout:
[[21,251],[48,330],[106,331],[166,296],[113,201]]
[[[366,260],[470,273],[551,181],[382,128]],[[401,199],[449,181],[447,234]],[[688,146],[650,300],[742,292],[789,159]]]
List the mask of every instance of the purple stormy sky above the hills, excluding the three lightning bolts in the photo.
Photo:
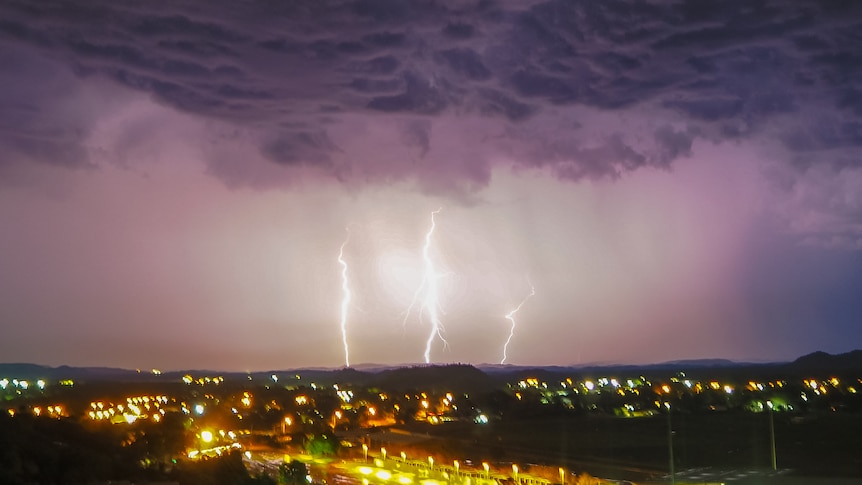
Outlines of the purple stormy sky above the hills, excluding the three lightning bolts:
[[862,342],[862,4],[0,3],[0,361]]

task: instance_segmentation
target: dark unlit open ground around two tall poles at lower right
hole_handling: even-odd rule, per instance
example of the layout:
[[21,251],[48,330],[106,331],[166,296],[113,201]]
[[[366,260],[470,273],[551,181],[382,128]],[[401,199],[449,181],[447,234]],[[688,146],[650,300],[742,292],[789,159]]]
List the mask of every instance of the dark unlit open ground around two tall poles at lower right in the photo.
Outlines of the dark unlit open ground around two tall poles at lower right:
[[[665,416],[546,418],[492,423],[415,425],[454,456],[560,463],[597,476],[644,480],[668,473]],[[672,415],[677,470],[771,467],[767,413]],[[862,477],[862,415],[827,413],[794,419],[775,415],[777,465],[793,475]]]

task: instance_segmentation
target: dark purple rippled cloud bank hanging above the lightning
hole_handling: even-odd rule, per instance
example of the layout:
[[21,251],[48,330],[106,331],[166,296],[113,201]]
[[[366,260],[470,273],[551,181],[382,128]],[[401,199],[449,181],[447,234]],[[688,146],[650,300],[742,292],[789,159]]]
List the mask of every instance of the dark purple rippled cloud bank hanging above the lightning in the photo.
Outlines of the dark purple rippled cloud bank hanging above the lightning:
[[88,166],[102,112],[69,106],[104,106],[84,88],[96,80],[253,147],[208,159],[230,186],[311,170],[464,199],[494,166],[615,178],[670,168],[697,139],[744,142],[769,147],[800,240],[854,247],[860,14],[742,0],[9,1],[0,147],[6,164]]

